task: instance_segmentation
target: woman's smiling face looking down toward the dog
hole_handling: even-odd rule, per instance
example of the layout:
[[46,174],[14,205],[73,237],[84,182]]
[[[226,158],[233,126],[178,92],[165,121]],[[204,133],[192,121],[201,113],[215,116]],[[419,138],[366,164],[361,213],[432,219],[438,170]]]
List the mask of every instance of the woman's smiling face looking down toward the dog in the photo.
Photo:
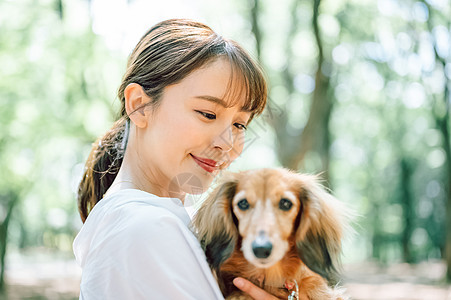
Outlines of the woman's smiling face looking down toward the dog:
[[231,75],[228,61],[218,59],[166,87],[159,106],[147,108],[148,126],[137,132],[139,166],[168,196],[205,191],[241,154],[251,113],[242,110],[243,93],[228,93]]

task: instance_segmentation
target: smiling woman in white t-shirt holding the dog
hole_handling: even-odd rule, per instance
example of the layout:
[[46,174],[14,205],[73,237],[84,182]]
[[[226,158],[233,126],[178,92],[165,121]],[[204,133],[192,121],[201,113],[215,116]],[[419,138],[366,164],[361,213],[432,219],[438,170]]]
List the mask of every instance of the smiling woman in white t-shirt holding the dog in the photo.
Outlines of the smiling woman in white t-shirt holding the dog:
[[118,97],[120,118],[94,144],[79,186],[80,298],[221,299],[183,201],[243,150],[266,103],[260,68],[206,25],[163,21],[130,55]]

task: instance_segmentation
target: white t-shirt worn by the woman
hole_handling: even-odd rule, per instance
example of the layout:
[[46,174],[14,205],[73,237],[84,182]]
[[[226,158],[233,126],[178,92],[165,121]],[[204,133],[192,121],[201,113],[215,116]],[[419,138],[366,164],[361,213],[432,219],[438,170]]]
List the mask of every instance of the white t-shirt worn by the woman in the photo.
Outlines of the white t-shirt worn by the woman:
[[80,299],[224,299],[176,198],[140,190],[97,203],[74,241]]

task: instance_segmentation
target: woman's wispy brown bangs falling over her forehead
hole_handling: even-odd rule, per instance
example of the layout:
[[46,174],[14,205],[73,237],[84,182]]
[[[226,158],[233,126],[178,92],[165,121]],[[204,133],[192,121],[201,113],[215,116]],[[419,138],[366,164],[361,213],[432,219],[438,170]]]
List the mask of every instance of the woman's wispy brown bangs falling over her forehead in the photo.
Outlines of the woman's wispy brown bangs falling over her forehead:
[[232,75],[224,99],[236,105],[244,95],[243,111],[251,113],[249,122],[263,112],[267,101],[267,86],[263,70],[252,61],[249,54],[233,41],[226,41],[226,57],[231,64]]

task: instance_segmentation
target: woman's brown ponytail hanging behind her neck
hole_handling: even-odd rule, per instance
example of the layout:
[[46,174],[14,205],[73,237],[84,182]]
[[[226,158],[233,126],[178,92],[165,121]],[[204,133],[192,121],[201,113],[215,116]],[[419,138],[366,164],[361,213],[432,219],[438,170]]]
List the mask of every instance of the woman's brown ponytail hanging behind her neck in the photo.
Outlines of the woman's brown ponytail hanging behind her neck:
[[83,223],[116,178],[127,147],[129,122],[121,117],[93,144],[78,186],[78,211]]

